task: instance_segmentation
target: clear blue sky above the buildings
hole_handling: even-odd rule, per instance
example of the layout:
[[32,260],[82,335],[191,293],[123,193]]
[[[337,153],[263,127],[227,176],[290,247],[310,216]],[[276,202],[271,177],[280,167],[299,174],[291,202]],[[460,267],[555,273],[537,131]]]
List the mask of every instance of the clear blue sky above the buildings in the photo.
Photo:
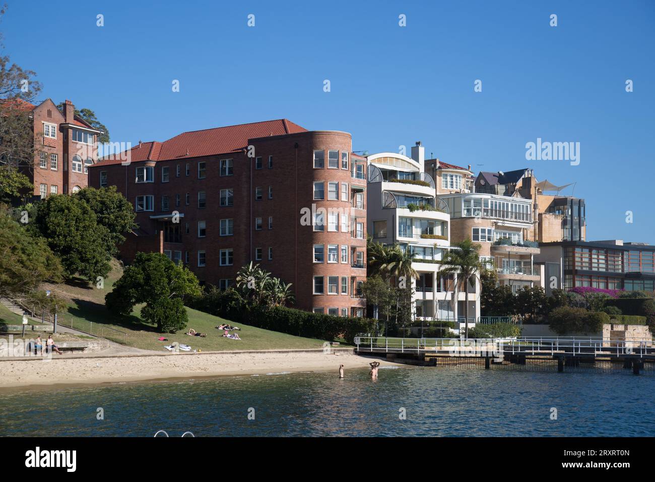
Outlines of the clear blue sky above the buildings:
[[[421,140],[576,182],[589,240],[655,243],[655,1],[6,1],[5,54],[113,141],[282,117],[371,153]],[[526,161],[538,137],[580,142],[580,165]]]

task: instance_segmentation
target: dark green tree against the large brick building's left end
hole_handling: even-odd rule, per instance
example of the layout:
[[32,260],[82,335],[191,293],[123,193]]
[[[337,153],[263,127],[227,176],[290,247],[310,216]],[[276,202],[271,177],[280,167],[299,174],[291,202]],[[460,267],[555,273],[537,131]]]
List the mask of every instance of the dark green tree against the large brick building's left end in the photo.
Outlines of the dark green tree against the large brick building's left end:
[[125,241],[125,234],[137,227],[134,219],[134,207],[124,195],[116,190],[116,186],[95,189],[84,188],[75,197],[81,199],[96,214],[96,222],[107,228],[107,250],[114,256],[118,253],[118,245]]

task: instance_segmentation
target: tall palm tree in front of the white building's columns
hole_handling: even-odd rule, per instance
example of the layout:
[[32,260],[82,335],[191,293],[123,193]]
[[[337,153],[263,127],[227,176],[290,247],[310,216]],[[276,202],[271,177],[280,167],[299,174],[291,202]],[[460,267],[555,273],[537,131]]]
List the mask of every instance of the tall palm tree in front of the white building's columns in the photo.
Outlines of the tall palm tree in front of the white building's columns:
[[459,294],[459,279],[464,280],[464,323],[466,326],[465,338],[468,338],[468,286],[471,283],[475,286],[476,280],[479,279],[485,266],[480,262],[481,246],[473,243],[468,237],[464,241],[453,243],[453,248],[449,249],[443,255],[441,261],[441,273],[452,274],[453,278],[457,277],[457,283],[453,287],[453,302],[457,302]]

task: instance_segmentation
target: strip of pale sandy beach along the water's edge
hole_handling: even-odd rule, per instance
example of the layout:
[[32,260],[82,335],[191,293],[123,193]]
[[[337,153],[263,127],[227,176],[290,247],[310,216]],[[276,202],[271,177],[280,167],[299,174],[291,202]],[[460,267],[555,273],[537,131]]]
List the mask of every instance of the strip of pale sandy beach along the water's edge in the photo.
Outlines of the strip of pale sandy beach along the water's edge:
[[[368,367],[375,359],[352,351],[271,351],[166,353],[153,355],[74,356],[0,361],[0,388],[52,384],[134,382],[198,376],[267,374]],[[398,365],[381,361],[382,365]]]

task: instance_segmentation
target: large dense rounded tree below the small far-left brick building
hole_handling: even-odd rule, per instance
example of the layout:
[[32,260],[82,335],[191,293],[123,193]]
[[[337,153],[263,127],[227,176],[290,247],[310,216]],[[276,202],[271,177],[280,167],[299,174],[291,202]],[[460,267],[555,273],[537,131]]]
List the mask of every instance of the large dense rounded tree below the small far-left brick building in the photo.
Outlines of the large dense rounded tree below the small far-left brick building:
[[37,205],[31,228],[47,239],[67,278],[79,274],[95,282],[111,270],[111,233],[77,196],[50,195]]

